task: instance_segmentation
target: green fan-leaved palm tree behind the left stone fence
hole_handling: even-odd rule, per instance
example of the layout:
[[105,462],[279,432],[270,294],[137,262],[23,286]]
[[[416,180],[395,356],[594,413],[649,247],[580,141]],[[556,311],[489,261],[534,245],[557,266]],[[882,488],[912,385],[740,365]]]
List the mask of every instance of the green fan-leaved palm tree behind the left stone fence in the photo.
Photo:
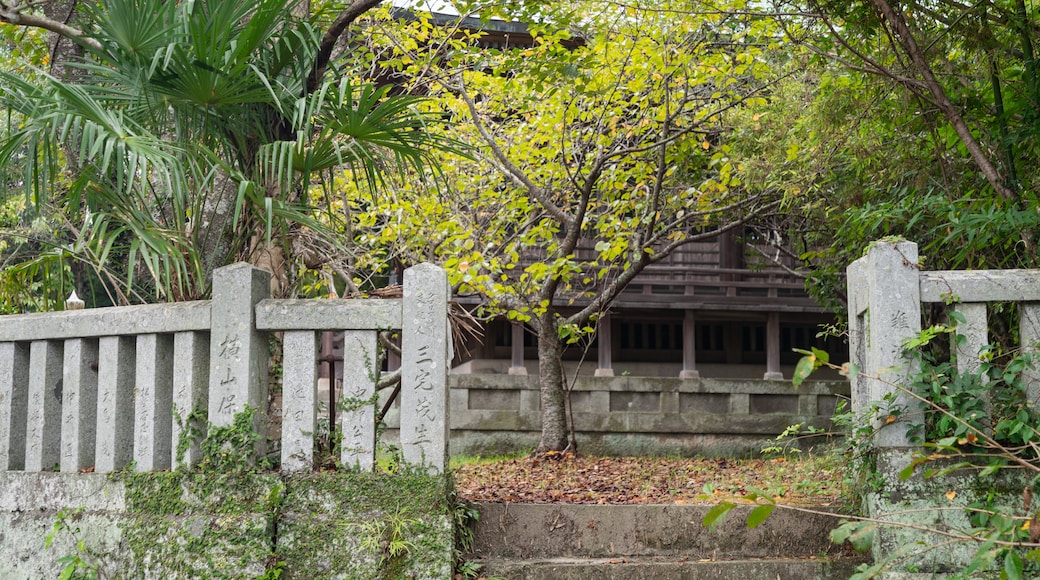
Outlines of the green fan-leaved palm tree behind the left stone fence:
[[113,302],[200,297],[214,267],[291,251],[300,232],[346,249],[310,207],[315,178],[350,168],[376,186],[453,147],[416,98],[324,74],[332,34],[285,0],[102,0],[84,16],[86,31],[56,29],[85,49],[68,80],[0,73],[0,106],[22,120],[0,164],[30,160],[25,192],[63,233],[0,284],[71,262]]

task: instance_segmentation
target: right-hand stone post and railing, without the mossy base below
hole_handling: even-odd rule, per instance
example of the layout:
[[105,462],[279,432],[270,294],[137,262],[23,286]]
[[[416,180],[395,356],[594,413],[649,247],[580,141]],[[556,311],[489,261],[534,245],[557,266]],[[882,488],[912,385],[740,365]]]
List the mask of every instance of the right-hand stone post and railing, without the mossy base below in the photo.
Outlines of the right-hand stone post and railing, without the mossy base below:
[[[905,385],[914,372],[903,345],[921,332],[921,304],[950,304],[962,315],[952,344],[962,372],[980,368],[980,350],[989,342],[987,302],[1018,304],[1018,342],[1023,352],[1037,350],[1040,341],[1040,270],[919,268],[917,244],[882,241],[848,269],[850,355],[859,367],[852,380],[853,410],[866,410],[887,396],[908,411],[894,421],[878,420],[874,444],[879,448],[911,446],[909,422],[919,422],[914,412],[920,403],[896,385]],[[1040,376],[1035,369],[1026,371],[1025,383],[1028,400],[1038,400]]]

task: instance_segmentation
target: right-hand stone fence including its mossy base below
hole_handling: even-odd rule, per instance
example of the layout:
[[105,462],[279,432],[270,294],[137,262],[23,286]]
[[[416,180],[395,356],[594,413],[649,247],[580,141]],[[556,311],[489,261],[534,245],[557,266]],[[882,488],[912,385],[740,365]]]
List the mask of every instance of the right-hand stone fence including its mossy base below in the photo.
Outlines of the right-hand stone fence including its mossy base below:
[[[861,490],[862,510],[886,523],[873,536],[874,559],[908,569],[890,578],[963,573],[979,550],[988,550],[977,539],[997,537],[992,528],[979,529],[979,506],[1018,513],[1022,491],[1035,484],[1035,472],[1013,469],[981,476],[966,466],[985,462],[985,456],[976,457],[966,448],[948,460],[929,456],[938,460],[908,476],[914,470],[906,468],[926,451],[920,425],[928,410],[904,390],[920,370],[904,354],[905,344],[921,333],[922,305],[946,304],[960,314],[951,344],[957,370],[978,372],[982,349],[989,343],[987,304],[1016,302],[1018,346],[1022,353],[1035,352],[1040,341],[1040,270],[921,271],[917,244],[882,240],[849,266],[848,283],[851,358],[859,367],[852,380],[853,411],[870,421],[874,432],[876,473],[869,478],[873,485]],[[1040,396],[1036,368],[1026,369],[1022,378],[1025,400],[1036,404]],[[872,414],[876,404],[882,405],[881,413]],[[886,404],[894,405],[892,413]],[[926,471],[933,474],[921,473]],[[994,516],[992,521],[998,519]],[[952,541],[957,537],[970,539]],[[983,574],[996,575],[995,569]]]

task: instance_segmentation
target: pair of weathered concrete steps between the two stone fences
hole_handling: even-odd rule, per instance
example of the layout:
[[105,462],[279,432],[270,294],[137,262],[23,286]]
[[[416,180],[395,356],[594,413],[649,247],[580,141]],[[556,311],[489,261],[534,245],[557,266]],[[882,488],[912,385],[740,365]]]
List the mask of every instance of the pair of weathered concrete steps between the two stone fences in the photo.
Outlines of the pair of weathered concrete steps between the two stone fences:
[[865,561],[830,542],[832,516],[777,509],[749,529],[753,506],[737,506],[709,530],[710,507],[478,504],[468,559],[508,580],[809,580]]

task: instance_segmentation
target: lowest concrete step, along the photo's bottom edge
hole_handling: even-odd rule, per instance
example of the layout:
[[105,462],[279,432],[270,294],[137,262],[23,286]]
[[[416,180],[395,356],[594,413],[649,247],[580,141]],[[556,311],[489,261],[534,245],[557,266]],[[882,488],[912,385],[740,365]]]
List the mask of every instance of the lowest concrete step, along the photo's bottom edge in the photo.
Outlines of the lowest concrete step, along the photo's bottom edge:
[[849,578],[863,558],[768,558],[690,561],[661,558],[476,560],[486,578],[504,580],[832,580]]

